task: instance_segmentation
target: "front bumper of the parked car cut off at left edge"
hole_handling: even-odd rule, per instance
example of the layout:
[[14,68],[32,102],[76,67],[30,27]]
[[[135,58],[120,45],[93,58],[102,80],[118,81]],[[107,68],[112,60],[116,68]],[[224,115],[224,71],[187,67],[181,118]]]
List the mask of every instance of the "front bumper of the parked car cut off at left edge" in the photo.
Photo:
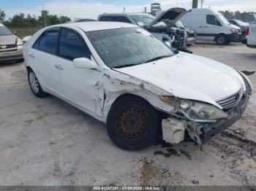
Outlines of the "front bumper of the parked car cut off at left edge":
[[23,46],[0,51],[0,61],[16,61],[23,59]]

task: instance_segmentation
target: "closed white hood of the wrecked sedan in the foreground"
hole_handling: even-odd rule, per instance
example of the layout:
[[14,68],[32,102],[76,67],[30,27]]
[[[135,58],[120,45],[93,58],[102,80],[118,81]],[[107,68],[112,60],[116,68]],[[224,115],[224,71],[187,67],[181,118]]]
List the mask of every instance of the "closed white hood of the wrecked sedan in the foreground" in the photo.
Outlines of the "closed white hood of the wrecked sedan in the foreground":
[[179,52],[170,58],[122,69],[121,73],[148,82],[178,98],[216,101],[238,93],[244,82],[229,66],[198,55]]

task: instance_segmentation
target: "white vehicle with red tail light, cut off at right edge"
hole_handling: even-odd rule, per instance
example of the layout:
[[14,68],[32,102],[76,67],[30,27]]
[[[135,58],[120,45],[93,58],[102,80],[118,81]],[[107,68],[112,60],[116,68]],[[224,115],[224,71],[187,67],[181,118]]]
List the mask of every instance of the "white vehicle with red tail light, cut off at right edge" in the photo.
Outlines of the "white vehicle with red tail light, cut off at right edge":
[[246,39],[243,40],[243,43],[247,47],[256,48],[256,22],[249,24],[249,28],[246,28]]

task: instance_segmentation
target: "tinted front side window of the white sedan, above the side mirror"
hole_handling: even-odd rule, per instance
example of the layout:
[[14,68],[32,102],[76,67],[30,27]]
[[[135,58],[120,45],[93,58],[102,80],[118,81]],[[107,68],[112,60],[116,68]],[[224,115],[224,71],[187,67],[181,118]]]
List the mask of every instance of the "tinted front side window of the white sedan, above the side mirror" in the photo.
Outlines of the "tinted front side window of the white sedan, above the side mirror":
[[65,28],[61,29],[59,55],[70,61],[73,61],[75,58],[91,59],[91,52],[82,36],[75,31]]

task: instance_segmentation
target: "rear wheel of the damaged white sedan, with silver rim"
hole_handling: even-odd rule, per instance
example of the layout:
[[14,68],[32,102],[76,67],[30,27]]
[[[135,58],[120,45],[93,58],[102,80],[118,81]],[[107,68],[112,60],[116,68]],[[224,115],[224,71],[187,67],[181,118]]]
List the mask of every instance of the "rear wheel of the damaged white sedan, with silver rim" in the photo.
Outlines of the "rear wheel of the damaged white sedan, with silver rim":
[[29,86],[34,95],[36,95],[38,98],[45,98],[48,95],[48,93],[45,93],[42,90],[42,87],[39,83],[39,80],[37,79],[36,74],[34,74],[34,71],[32,71],[31,69],[28,69],[28,80]]

